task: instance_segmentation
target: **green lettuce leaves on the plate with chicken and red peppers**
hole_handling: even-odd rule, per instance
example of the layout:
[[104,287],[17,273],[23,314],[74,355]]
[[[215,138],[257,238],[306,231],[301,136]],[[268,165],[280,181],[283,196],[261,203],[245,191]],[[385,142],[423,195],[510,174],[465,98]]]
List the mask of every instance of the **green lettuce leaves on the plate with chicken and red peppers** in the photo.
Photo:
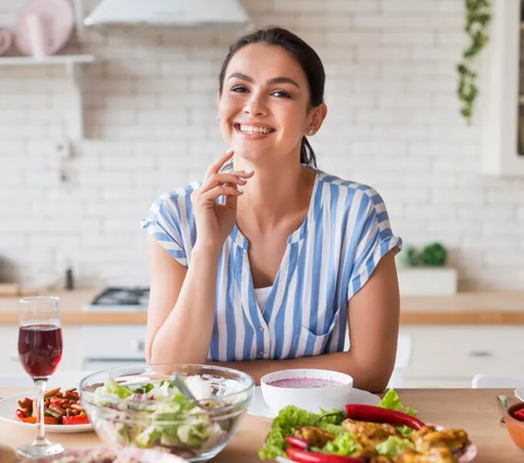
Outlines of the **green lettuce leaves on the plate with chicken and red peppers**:
[[[412,416],[417,414],[414,408],[405,407],[401,403],[401,399],[394,389],[388,391],[378,406],[400,411]],[[299,426],[314,426],[335,436],[334,440],[327,442],[322,449],[318,449],[321,452],[338,455],[348,455],[356,452],[361,447],[357,443],[356,437],[342,426],[344,419],[345,414],[341,409],[333,409],[332,412],[321,409],[319,414],[314,414],[289,405],[281,409],[278,416],[273,420],[264,446],[259,450],[259,456],[262,460],[286,456],[287,443],[285,438],[293,436],[295,428]],[[407,426],[397,426],[397,429],[405,438],[413,432],[413,429]],[[376,447],[380,455],[388,456],[394,456],[408,448],[413,448],[413,443],[407,439],[397,437],[390,437]]]

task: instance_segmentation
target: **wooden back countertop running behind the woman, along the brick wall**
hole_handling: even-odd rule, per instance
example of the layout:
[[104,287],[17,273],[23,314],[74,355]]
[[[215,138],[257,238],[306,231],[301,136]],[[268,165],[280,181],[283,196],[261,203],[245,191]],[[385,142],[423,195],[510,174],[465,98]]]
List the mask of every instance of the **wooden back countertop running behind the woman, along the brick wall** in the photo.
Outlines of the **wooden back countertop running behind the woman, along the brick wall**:
[[[146,312],[84,312],[100,289],[59,290],[63,324],[144,324]],[[19,323],[19,297],[0,297],[0,325]],[[403,296],[401,324],[524,324],[524,292]]]

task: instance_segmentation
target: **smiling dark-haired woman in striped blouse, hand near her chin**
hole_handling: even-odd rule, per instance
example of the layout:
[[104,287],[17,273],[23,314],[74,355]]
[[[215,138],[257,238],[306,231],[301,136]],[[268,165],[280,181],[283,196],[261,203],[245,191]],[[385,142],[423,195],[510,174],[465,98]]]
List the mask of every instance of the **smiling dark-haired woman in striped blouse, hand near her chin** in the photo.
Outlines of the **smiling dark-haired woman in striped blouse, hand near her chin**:
[[402,242],[373,189],[315,168],[307,136],[326,116],[323,92],[320,58],[288,31],[255,31],[230,47],[217,118],[230,150],[201,185],[160,197],[143,223],[148,363],[235,361],[257,382],[277,369],[329,368],[360,389],[386,385]]

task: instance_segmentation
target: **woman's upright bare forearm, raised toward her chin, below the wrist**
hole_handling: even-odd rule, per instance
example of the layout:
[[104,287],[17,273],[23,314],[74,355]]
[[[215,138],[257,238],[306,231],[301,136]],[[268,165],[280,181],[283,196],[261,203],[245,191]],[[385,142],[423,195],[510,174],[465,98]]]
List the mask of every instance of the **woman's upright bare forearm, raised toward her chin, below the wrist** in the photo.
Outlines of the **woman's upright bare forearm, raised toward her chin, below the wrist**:
[[156,333],[152,364],[205,364],[213,333],[219,252],[195,247],[177,304]]

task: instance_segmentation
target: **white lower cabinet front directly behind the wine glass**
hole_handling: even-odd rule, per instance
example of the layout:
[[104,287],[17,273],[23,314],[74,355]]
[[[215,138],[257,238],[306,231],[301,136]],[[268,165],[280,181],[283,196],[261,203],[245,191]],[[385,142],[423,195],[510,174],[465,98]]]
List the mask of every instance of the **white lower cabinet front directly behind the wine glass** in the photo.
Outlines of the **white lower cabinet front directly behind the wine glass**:
[[[80,370],[80,336],[78,327],[62,327],[63,354],[57,371]],[[0,375],[23,373],[19,360],[19,327],[0,327]]]

